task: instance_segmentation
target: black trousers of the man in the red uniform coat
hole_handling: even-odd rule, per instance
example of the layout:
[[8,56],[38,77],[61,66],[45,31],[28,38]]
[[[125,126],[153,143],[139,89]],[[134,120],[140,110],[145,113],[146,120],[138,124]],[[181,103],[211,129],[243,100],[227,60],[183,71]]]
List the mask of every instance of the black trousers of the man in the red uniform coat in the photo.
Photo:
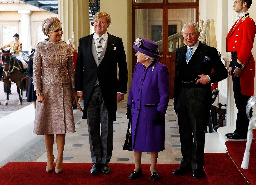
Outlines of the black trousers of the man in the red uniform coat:
[[[232,52],[232,61],[236,61],[237,53]],[[249,126],[249,119],[246,115],[246,104],[247,101],[251,96],[246,96],[241,93],[241,86],[240,86],[240,77],[234,77],[234,70],[235,70],[235,62],[232,63],[232,82],[233,82],[233,91],[234,91],[234,98],[236,103],[236,108],[238,110],[236,116],[236,132],[239,134],[247,134],[248,126]],[[243,73],[243,71],[242,71]]]

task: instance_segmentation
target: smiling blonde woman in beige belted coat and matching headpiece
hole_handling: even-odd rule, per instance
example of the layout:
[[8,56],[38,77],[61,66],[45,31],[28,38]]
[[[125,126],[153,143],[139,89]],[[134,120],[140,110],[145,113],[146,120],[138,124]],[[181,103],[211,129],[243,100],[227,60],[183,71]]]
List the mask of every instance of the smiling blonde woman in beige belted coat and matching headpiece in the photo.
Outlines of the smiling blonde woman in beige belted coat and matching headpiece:
[[[61,41],[62,27],[57,17],[42,23],[49,37],[35,47],[33,63],[34,90],[37,101],[34,134],[44,135],[47,150],[46,171],[53,171],[53,143],[56,134],[58,157],[54,171],[62,172],[65,134],[75,132],[73,104],[77,103],[72,51]],[[42,76],[41,76],[42,74]]]

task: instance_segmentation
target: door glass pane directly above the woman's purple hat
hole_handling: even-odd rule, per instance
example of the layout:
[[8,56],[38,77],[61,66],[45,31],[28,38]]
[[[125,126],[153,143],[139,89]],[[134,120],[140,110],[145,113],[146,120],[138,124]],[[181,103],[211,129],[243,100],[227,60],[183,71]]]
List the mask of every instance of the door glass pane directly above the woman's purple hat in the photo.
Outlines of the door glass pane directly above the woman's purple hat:
[[163,9],[135,10],[135,38],[148,38],[159,44],[162,52]]

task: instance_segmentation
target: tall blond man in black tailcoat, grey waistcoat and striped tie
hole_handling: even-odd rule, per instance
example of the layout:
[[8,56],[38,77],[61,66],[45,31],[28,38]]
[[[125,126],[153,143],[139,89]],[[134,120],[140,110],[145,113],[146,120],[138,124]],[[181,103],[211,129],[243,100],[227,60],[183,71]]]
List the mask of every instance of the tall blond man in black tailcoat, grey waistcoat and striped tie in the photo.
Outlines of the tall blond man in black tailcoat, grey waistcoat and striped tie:
[[[75,90],[84,100],[93,166],[92,175],[109,174],[113,149],[113,121],[117,102],[127,89],[127,64],[123,41],[107,33],[111,17],[106,12],[93,16],[95,33],[79,40]],[[118,79],[117,79],[118,64]]]

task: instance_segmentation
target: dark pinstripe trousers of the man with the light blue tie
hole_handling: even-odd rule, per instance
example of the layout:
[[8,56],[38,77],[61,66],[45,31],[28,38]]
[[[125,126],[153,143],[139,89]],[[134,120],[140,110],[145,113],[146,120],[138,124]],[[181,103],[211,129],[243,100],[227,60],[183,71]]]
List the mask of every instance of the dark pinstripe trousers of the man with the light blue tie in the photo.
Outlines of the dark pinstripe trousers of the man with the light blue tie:
[[209,121],[210,107],[206,88],[181,88],[177,101],[181,167],[201,169],[204,166],[204,131]]

